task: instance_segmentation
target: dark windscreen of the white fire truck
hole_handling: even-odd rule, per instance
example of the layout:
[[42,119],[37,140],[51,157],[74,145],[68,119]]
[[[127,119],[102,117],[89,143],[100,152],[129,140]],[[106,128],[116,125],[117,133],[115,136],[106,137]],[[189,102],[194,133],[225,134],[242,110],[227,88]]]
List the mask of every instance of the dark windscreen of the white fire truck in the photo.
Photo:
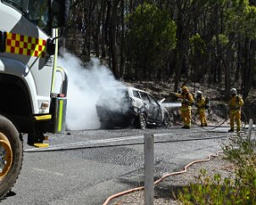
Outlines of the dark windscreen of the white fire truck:
[[26,19],[29,19],[50,35],[50,7],[48,0],[2,0],[2,2],[19,10]]

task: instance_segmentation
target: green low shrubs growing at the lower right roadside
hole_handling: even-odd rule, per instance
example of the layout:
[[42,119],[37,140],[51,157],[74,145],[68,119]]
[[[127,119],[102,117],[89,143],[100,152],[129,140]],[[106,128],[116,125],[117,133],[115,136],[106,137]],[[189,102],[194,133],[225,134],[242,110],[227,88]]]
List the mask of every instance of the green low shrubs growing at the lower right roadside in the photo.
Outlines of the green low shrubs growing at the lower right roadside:
[[225,158],[235,164],[236,177],[207,176],[201,170],[197,182],[179,191],[182,204],[256,204],[256,142],[239,138],[223,148]]

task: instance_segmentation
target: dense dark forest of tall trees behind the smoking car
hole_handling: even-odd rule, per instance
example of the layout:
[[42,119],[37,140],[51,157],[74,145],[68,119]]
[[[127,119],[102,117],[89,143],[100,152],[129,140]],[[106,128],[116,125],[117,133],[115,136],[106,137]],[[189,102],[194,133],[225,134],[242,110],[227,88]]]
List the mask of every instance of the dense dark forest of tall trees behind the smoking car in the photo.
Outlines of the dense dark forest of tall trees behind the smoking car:
[[61,47],[159,98],[199,89],[220,115],[236,87],[255,122],[255,25],[255,0],[71,0]]

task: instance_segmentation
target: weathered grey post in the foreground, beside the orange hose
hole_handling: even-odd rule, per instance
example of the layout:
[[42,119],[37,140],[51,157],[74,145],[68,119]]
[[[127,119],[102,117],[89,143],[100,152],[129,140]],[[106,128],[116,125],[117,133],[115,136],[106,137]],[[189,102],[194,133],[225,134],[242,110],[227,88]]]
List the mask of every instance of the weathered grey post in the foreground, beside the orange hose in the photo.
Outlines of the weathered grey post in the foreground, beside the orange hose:
[[145,205],[153,205],[153,134],[144,135],[144,188]]

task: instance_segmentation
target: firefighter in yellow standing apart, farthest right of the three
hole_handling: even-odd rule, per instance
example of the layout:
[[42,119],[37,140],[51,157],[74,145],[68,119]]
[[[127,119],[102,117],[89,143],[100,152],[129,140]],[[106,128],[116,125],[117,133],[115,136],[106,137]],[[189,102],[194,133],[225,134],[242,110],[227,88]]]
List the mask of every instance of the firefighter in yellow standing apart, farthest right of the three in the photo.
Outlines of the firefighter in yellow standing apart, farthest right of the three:
[[230,118],[231,118],[231,129],[228,130],[229,132],[234,131],[235,129],[235,119],[237,122],[237,132],[241,130],[241,108],[243,105],[242,97],[237,95],[237,89],[231,89],[231,99],[229,102],[230,108]]

